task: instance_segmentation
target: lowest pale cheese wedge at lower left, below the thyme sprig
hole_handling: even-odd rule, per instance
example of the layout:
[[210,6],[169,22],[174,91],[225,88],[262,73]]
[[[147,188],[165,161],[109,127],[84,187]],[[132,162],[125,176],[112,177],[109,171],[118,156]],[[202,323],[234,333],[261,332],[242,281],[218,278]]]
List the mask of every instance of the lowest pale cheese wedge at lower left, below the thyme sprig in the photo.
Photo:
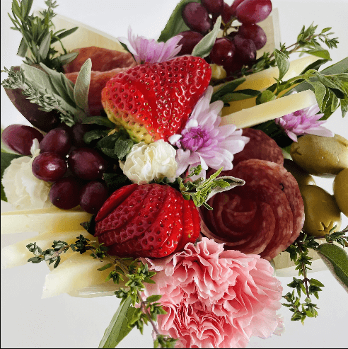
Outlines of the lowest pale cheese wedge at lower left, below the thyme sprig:
[[42,298],[54,297],[66,292],[76,292],[95,285],[100,285],[99,290],[103,290],[104,285],[108,285],[105,290],[110,291],[111,287],[114,292],[120,287],[124,287],[124,282],[120,282],[119,285],[112,280],[105,282],[112,268],[103,271],[99,271],[98,268],[107,263],[110,261],[94,259],[90,253],[74,253],[71,258],[59,264],[46,276]]

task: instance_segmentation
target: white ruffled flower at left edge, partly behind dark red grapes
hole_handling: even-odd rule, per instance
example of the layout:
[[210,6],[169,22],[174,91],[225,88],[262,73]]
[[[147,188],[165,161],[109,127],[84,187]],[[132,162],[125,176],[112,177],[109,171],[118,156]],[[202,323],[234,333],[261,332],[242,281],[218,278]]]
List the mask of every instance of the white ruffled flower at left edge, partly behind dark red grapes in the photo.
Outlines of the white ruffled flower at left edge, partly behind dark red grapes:
[[33,157],[13,159],[2,178],[6,198],[17,210],[52,206],[48,198],[51,184],[36,178],[31,168],[35,157],[40,154],[37,139],[34,139],[30,152]]

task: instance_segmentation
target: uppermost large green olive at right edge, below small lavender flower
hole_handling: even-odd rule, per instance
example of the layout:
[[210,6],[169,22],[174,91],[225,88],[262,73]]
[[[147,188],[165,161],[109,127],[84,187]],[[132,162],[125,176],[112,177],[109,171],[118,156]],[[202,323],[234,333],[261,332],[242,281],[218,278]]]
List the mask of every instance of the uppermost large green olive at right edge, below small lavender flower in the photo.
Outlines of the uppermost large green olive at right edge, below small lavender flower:
[[320,177],[335,177],[348,168],[348,140],[340,135],[305,135],[291,144],[292,159],[305,171]]

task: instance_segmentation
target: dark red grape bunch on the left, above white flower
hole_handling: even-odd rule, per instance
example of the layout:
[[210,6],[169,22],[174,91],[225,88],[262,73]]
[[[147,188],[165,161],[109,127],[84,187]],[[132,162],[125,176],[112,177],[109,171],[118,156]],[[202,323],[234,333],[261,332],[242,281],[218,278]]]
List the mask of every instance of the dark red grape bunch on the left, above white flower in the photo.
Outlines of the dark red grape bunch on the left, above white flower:
[[22,155],[31,155],[36,138],[40,154],[33,161],[33,175],[52,184],[49,198],[63,210],[77,205],[96,213],[108,198],[108,187],[102,180],[108,161],[93,148],[86,147],[83,135],[88,125],[56,127],[45,136],[34,127],[11,125],[1,135],[4,144]]

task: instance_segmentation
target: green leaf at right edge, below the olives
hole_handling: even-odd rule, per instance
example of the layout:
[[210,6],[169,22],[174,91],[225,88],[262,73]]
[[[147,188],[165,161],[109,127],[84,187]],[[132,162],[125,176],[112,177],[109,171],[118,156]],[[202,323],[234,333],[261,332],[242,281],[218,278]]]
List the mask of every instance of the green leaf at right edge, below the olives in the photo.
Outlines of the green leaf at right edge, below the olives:
[[348,255],[343,248],[334,244],[321,244],[316,248],[318,255],[332,275],[348,292]]

